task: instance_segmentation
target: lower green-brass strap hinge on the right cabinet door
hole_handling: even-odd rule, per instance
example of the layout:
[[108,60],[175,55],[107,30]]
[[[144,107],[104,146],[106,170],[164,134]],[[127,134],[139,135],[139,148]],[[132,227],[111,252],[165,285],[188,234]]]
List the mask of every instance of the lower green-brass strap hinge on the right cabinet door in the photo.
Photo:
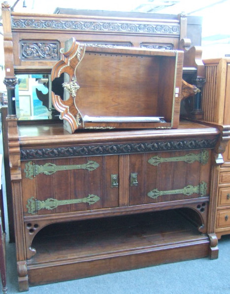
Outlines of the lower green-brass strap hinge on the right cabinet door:
[[207,184],[202,182],[197,186],[188,185],[182,189],[175,189],[175,190],[167,190],[167,191],[159,191],[158,189],[153,189],[152,191],[148,192],[148,196],[150,198],[156,199],[159,196],[163,195],[171,195],[171,194],[184,194],[190,196],[192,194],[200,194],[200,197],[203,197],[207,193]]

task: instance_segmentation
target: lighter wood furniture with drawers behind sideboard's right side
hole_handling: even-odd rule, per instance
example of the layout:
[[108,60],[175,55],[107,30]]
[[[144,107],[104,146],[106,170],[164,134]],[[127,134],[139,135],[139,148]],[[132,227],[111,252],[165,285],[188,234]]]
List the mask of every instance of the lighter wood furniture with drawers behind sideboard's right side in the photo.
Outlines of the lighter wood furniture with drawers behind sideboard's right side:
[[[202,106],[204,119],[230,125],[230,60],[227,58],[203,60],[206,83]],[[230,145],[223,153],[224,163],[219,167],[215,232],[218,238],[230,233]]]

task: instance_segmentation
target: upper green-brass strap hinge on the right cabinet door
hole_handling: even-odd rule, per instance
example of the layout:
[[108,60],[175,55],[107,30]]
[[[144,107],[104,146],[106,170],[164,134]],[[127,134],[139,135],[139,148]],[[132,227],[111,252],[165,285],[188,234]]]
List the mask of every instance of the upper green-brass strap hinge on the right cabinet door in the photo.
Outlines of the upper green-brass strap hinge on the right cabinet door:
[[148,160],[148,163],[152,165],[158,165],[159,163],[163,162],[175,162],[175,161],[185,161],[187,163],[193,163],[195,161],[201,162],[202,165],[208,162],[209,153],[207,150],[203,150],[198,154],[188,153],[184,156],[177,156],[177,157],[159,157],[153,156]]

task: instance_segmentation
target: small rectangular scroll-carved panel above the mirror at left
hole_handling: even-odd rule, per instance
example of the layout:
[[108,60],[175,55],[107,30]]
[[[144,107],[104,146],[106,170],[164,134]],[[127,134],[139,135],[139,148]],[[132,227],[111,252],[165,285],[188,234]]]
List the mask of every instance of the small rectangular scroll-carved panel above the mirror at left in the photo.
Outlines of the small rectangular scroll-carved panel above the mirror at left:
[[20,42],[20,56],[22,60],[60,60],[60,46],[58,41],[33,40]]

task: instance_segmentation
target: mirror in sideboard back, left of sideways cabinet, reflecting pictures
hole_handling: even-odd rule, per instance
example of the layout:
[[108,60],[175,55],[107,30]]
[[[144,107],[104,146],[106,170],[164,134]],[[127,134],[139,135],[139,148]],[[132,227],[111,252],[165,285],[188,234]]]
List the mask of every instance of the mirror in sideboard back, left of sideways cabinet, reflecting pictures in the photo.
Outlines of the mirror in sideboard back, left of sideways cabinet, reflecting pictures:
[[19,120],[59,119],[51,101],[50,74],[17,74],[16,114]]

